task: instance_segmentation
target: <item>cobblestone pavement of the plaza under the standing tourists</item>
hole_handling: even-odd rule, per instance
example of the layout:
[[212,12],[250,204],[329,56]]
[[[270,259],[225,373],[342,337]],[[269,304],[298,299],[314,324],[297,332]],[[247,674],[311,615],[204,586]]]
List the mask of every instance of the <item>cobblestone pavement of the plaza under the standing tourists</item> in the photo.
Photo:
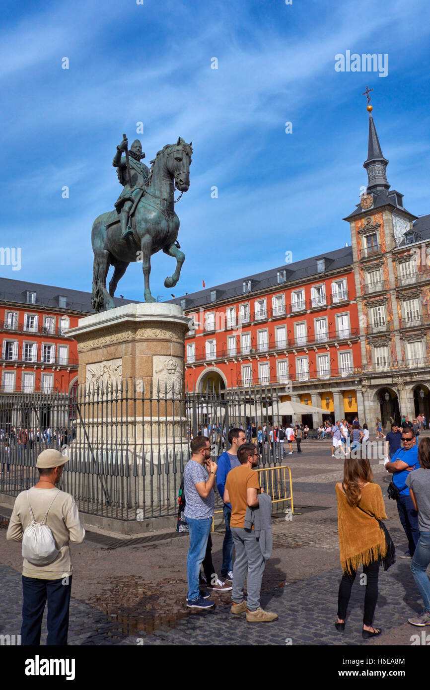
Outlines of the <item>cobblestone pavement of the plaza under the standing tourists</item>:
[[[410,561],[401,558],[387,573],[380,573],[375,625],[382,635],[369,641],[361,637],[364,588],[359,576],[346,630],[336,631],[341,570],[334,484],[342,477],[343,462],[330,457],[327,442],[302,442],[302,449],[302,456],[294,454],[286,461],[293,474],[295,514],[292,521],[285,521],[282,513],[273,521],[273,554],[262,586],[262,606],[276,611],[277,621],[251,624],[244,615],[231,615],[228,593],[215,595],[217,605],[211,611],[186,609],[186,536],[121,549],[86,540],[72,546],[69,644],[411,644],[411,635],[420,629],[407,619],[421,611],[422,602]],[[384,467],[375,461],[372,469],[385,493]],[[406,550],[404,533],[395,502],[385,498],[385,503],[400,555]],[[215,567],[221,560],[223,535],[222,526],[213,533]],[[6,542],[6,532],[0,529],[0,634],[19,634],[20,569],[20,546]],[[42,644],[45,640],[43,633]]]

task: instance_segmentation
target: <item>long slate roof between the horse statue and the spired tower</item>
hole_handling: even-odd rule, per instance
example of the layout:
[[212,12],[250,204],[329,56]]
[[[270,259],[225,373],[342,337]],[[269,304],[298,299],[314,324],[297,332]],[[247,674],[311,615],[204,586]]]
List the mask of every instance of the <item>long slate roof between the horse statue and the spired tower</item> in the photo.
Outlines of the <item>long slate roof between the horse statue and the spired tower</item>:
[[[335,249],[331,252],[324,252],[310,259],[302,259],[302,261],[297,261],[293,264],[284,264],[277,268],[262,271],[262,273],[253,273],[253,275],[246,275],[228,283],[222,283],[210,288],[204,288],[204,290],[198,290],[195,293],[175,297],[175,299],[169,299],[168,302],[180,304],[181,300],[185,299],[185,308],[190,309],[204,304],[211,304],[211,290],[217,291],[216,301],[218,302],[220,299],[235,299],[236,297],[244,297],[246,299],[246,295],[256,290],[278,287],[282,289],[288,286],[289,283],[297,280],[306,280],[316,275],[324,275],[317,268],[317,259],[325,259],[325,271],[341,270],[346,268],[346,266],[351,266],[353,263],[352,248],[349,246]],[[282,283],[277,282],[277,272],[280,270],[285,270],[286,273],[286,280]],[[247,280],[251,280],[251,290],[244,293],[244,281]]]

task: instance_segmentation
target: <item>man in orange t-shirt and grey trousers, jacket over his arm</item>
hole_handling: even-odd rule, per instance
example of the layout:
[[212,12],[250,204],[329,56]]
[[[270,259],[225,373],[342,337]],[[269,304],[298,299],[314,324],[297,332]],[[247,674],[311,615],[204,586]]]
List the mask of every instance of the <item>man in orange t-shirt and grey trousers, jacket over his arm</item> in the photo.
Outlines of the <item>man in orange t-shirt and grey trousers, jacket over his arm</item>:
[[[245,515],[249,508],[258,508],[260,481],[255,468],[260,455],[252,443],[244,443],[237,449],[239,467],[227,475],[224,503],[231,503],[230,529],[235,542],[236,558],[233,567],[233,591],[231,613],[244,613],[248,622],[269,622],[277,619],[276,613],[260,607],[260,589],[264,573],[264,558],[259,540],[253,529],[245,529]],[[248,602],[244,601],[246,575]]]

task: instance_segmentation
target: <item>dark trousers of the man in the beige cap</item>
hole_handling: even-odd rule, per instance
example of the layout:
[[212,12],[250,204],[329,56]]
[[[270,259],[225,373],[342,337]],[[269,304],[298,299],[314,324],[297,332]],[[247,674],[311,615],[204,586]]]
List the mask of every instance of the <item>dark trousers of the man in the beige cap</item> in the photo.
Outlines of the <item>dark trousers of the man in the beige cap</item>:
[[[63,582],[67,584],[62,584]],[[71,589],[71,575],[65,575],[61,580],[39,580],[22,576],[21,644],[39,646],[43,611],[48,602],[46,644],[67,645]]]

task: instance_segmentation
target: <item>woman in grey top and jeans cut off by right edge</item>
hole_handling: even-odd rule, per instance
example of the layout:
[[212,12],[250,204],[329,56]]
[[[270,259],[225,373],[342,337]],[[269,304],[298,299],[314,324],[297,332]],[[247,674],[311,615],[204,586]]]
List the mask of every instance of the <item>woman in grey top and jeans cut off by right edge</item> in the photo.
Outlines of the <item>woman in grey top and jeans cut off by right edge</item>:
[[418,462],[420,469],[409,473],[406,484],[418,511],[420,539],[413,554],[411,571],[424,601],[424,612],[417,618],[409,618],[409,623],[424,626],[430,625],[430,580],[426,575],[430,563],[430,438],[420,440]]

